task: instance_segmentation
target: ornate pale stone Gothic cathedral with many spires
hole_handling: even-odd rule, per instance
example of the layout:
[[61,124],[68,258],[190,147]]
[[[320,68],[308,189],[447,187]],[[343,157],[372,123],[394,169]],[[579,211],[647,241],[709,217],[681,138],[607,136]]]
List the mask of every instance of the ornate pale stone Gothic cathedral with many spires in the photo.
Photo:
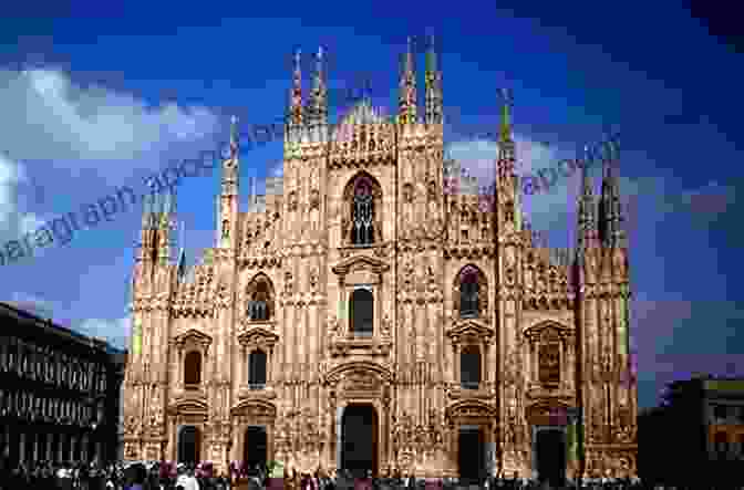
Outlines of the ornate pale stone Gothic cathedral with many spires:
[[423,117],[411,52],[396,121],[363,102],[329,124],[323,76],[319,60],[303,105],[296,66],[283,177],[248,212],[234,125],[216,243],[190,271],[183,250],[172,261],[174,197],[146,205],[125,458],[560,479],[578,465],[551,455],[580,407],[587,473],[634,475],[617,153],[600,198],[585,175],[560,263],[523,220],[507,107],[493,206],[445,192],[462,171],[433,51]]

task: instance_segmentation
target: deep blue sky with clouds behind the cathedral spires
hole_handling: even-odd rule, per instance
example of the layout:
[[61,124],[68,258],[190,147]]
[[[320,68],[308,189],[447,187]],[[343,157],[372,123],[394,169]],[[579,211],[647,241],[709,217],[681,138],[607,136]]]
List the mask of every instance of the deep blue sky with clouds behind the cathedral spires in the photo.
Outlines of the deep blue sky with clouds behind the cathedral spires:
[[[369,76],[373,102],[390,114],[406,37],[434,32],[446,139],[472,174],[490,173],[495,147],[473,135],[495,129],[502,87],[514,93],[518,173],[572,156],[606,125],[620,132],[641,405],[694,372],[744,375],[734,282],[744,244],[742,55],[671,1],[539,3],[59,2],[43,19],[12,7],[0,20],[1,238],[116,186],[142,188],[166,161],[213,148],[231,114],[244,126],[273,122],[297,48],[324,48],[331,88]],[[248,177],[280,160],[278,142],[244,154],[244,202]],[[189,262],[214,243],[217,178],[178,188]],[[575,194],[568,179],[527,199],[551,244],[574,241]],[[0,296],[123,344],[140,219],[118,215],[4,265]]]

